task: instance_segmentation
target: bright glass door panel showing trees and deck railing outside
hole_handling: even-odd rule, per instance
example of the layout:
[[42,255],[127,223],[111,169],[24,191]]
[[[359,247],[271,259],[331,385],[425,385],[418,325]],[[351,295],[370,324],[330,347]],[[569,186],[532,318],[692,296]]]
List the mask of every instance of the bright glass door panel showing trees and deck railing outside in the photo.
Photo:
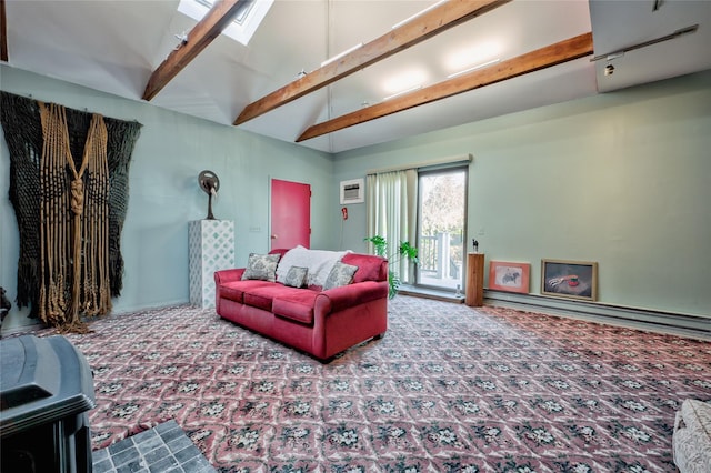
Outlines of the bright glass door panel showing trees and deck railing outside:
[[449,168],[419,173],[418,285],[463,291],[467,171]]

